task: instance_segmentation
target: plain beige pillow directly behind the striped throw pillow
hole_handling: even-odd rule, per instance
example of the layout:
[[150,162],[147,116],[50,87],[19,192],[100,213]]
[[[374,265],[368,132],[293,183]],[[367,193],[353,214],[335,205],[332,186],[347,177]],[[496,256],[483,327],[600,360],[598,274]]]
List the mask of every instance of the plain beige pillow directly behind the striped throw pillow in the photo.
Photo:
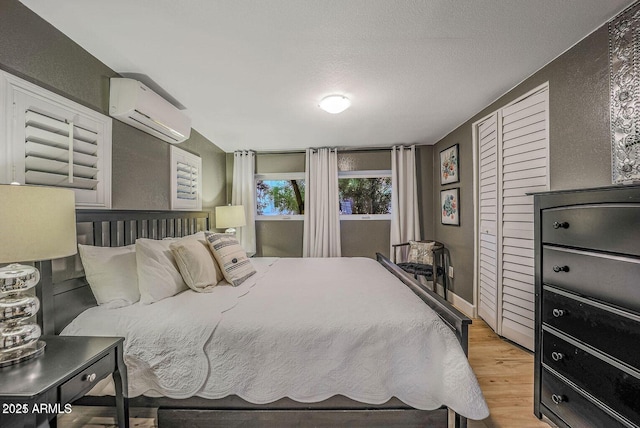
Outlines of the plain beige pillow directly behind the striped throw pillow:
[[[204,238],[204,234],[202,237]],[[178,264],[182,279],[192,290],[213,291],[213,287],[224,278],[204,239],[190,236],[171,242],[169,248]]]

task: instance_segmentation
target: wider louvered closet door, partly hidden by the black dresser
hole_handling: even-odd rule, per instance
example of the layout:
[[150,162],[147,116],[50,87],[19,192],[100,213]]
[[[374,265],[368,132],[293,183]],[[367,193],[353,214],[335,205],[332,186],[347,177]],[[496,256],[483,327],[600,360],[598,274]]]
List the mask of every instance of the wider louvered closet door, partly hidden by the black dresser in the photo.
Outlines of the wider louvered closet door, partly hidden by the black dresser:
[[533,196],[548,190],[548,89],[502,110],[502,336],[533,349]]

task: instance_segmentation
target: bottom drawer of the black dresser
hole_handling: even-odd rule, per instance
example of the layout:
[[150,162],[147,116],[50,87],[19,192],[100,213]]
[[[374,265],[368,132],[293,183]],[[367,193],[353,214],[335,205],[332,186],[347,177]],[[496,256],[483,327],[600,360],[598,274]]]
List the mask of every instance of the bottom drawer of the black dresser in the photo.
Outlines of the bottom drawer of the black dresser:
[[547,370],[542,371],[541,401],[567,425],[574,428],[626,426]]

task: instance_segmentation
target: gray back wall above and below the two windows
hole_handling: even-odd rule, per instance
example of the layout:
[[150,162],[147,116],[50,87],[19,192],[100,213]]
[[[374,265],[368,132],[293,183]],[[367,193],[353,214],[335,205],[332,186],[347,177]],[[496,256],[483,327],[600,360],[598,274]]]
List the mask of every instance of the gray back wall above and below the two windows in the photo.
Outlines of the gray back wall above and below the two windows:
[[[227,164],[229,166],[229,163]],[[231,169],[233,162],[230,163]],[[391,169],[389,150],[338,152],[341,171]],[[304,172],[304,153],[259,153],[256,173]],[[229,182],[231,178],[227,175]],[[256,222],[256,255],[262,257],[302,257],[302,220],[259,220]],[[389,220],[343,220],[340,222],[342,255],[371,257],[376,252],[389,255]]]

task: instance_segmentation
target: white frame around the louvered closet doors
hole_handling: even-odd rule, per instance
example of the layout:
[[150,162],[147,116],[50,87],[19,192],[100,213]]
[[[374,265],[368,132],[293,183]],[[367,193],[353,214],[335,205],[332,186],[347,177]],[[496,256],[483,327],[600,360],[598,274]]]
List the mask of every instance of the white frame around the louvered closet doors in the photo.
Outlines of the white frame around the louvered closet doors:
[[[503,295],[503,261],[502,261],[502,246],[503,246],[503,233],[502,233],[502,229],[503,229],[503,209],[501,208],[503,206],[503,189],[502,189],[502,180],[503,180],[503,175],[502,175],[502,168],[503,168],[503,147],[502,147],[502,143],[503,143],[503,135],[502,135],[502,118],[503,118],[503,110],[505,110],[506,108],[517,104],[519,102],[521,102],[522,100],[534,95],[536,92],[539,92],[541,90],[547,90],[547,94],[549,93],[549,82],[545,82],[539,86],[537,86],[536,88],[528,91],[527,93],[521,95],[520,97],[514,99],[513,101],[509,102],[508,104],[505,104],[504,106],[494,110],[493,112],[491,112],[490,114],[487,114],[485,116],[483,116],[482,118],[478,119],[477,121],[472,123],[472,148],[473,148],[473,206],[474,206],[474,210],[473,210],[473,220],[474,220],[474,234],[473,234],[473,246],[474,246],[474,266],[473,266],[473,296],[474,296],[474,317],[478,316],[478,312],[479,312],[479,307],[480,307],[480,278],[479,278],[479,268],[480,268],[480,153],[479,153],[479,133],[478,133],[478,127],[479,125],[481,125],[483,122],[485,122],[486,120],[490,119],[492,116],[496,116],[496,122],[498,124],[498,135],[497,135],[497,152],[498,152],[498,165],[497,165],[497,176],[498,176],[498,188],[497,188],[497,197],[498,197],[498,210],[497,210],[497,219],[498,219],[498,225],[497,225],[497,230],[496,230],[496,242],[497,242],[497,259],[496,259],[496,263],[498,264],[497,267],[497,289],[496,289],[496,293],[498,296],[497,299],[497,319],[496,319],[496,334],[498,334],[499,336],[502,336],[502,295]],[[547,175],[546,175],[546,188],[547,190],[550,188],[550,177],[551,177],[551,171],[549,169],[549,146],[550,146],[550,139],[549,139],[549,125],[550,125],[550,117],[549,117],[549,96],[547,95],[547,108],[546,108],[546,139],[547,139]]]

